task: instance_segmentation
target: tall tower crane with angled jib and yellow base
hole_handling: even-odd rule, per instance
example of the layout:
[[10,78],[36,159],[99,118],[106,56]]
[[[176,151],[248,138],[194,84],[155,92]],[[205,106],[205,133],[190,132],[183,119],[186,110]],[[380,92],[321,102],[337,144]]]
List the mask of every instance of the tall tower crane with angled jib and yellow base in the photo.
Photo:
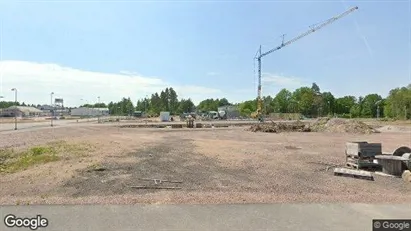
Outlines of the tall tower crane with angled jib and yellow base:
[[344,16],[352,13],[353,11],[355,11],[355,10],[357,10],[357,9],[358,9],[358,7],[353,7],[353,8],[345,11],[344,13],[342,13],[342,14],[340,14],[340,15],[337,15],[337,16],[335,16],[335,17],[332,17],[332,18],[326,20],[325,22],[323,22],[323,23],[321,23],[321,24],[319,24],[319,25],[317,25],[317,26],[312,27],[310,30],[308,30],[308,31],[306,31],[306,32],[298,35],[297,37],[295,37],[295,38],[293,38],[293,39],[288,40],[287,42],[284,42],[284,35],[283,35],[283,42],[281,43],[281,45],[278,46],[278,47],[275,47],[275,48],[273,48],[273,49],[271,49],[271,50],[269,50],[269,51],[267,51],[267,52],[262,53],[262,51],[261,51],[261,45],[260,45],[260,48],[259,48],[259,50],[257,51],[257,54],[256,54],[256,56],[255,56],[255,59],[257,59],[257,61],[258,61],[257,111],[254,112],[254,113],[252,113],[252,115],[251,115],[252,117],[258,118],[258,120],[259,120],[260,122],[263,122],[263,121],[264,121],[263,113],[262,113],[262,104],[263,104],[263,103],[262,103],[262,98],[261,98],[261,59],[262,59],[264,56],[269,55],[269,54],[271,54],[271,53],[274,52],[274,51],[280,50],[281,48],[283,48],[283,47],[285,47],[285,46],[287,46],[287,45],[290,45],[291,43],[293,43],[293,42],[295,42],[295,41],[297,41],[297,40],[299,40],[299,39],[301,39],[301,38],[303,38],[303,37],[305,37],[305,36],[307,36],[307,35],[315,32],[315,31],[317,31],[317,30],[319,30],[319,29],[323,28],[324,26],[327,26],[327,25],[329,25],[329,24],[337,21],[338,19],[340,19],[340,18],[342,18],[342,17],[344,17]]

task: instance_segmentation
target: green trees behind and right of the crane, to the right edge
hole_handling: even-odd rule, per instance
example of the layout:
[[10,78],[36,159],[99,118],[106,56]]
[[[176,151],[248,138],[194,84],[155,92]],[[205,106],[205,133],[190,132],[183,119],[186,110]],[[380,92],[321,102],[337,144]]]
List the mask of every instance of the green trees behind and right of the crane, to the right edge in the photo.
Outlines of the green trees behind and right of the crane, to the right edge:
[[[263,112],[301,113],[306,117],[338,115],[339,117],[395,119],[411,118],[411,84],[395,88],[387,98],[379,94],[355,97],[352,95],[336,98],[331,92],[321,92],[313,83],[311,87],[300,87],[293,92],[282,89],[275,97],[263,97]],[[243,115],[250,115],[257,109],[257,99],[238,104]]]

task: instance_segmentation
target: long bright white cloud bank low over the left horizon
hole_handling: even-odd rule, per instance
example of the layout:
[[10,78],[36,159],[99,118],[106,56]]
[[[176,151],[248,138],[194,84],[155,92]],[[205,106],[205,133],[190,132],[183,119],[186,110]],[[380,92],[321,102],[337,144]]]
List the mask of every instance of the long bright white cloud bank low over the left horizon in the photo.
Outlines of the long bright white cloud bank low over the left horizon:
[[175,85],[158,77],[146,77],[136,72],[102,73],[79,70],[50,63],[0,61],[0,95],[14,100],[11,88],[18,89],[18,100],[26,103],[48,104],[50,93],[63,98],[66,106],[77,106],[81,99],[93,103],[118,101],[130,97],[133,102],[146,95],[173,87],[179,97],[190,97],[195,103],[221,93],[219,89]]

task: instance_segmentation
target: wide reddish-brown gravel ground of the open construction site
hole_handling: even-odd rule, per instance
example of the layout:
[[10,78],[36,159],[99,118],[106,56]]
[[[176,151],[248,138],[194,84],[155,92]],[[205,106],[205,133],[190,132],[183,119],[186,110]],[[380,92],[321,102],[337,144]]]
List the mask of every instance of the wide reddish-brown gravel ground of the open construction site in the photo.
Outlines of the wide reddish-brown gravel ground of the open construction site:
[[[64,147],[56,161],[1,172],[0,204],[411,202],[411,184],[401,178],[376,175],[375,181],[366,181],[333,175],[332,168],[345,163],[348,141],[380,142],[385,153],[411,146],[409,126],[384,124],[380,130],[264,133],[244,126],[168,129],[83,123],[4,132],[3,152]],[[181,189],[132,188],[154,185],[141,178],[182,181],[161,184]]]

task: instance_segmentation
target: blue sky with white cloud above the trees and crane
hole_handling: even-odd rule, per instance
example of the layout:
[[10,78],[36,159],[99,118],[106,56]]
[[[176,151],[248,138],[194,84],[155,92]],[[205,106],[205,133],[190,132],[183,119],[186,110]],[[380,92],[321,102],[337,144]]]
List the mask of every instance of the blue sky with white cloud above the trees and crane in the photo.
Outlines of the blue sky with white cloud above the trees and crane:
[[[263,94],[316,82],[336,96],[411,83],[410,1],[3,1],[0,94],[68,105],[133,100],[165,86],[199,101],[256,96],[253,57],[359,10],[263,58]],[[83,101],[81,101],[83,99]]]

